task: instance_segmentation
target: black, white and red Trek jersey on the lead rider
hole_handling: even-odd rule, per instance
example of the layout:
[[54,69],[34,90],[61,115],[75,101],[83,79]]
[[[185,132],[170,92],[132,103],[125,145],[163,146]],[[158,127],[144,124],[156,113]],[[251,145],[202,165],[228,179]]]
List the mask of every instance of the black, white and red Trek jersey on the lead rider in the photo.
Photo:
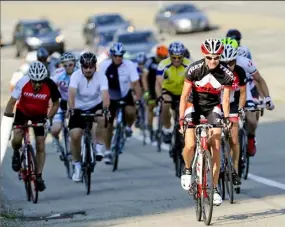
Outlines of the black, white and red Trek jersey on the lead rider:
[[210,111],[220,104],[223,87],[231,88],[233,81],[233,73],[223,63],[209,70],[204,59],[196,61],[190,65],[186,73],[186,82],[192,84],[192,94],[188,101],[193,103],[196,111]]

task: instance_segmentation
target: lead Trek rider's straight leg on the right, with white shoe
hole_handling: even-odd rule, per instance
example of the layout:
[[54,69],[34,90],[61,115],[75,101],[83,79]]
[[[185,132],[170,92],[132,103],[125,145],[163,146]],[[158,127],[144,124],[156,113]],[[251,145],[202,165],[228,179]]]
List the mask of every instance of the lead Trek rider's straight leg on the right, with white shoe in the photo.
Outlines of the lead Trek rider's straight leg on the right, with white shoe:
[[[203,115],[207,118],[209,124],[219,124],[220,120],[222,119],[221,106],[220,105],[215,106],[212,111],[208,111]],[[222,129],[213,128],[210,130],[210,135],[212,135],[210,139],[210,146],[211,146],[212,162],[213,162],[214,204],[220,205],[223,200],[217,191],[217,185],[219,181],[220,165],[221,165],[220,147],[221,147]]]

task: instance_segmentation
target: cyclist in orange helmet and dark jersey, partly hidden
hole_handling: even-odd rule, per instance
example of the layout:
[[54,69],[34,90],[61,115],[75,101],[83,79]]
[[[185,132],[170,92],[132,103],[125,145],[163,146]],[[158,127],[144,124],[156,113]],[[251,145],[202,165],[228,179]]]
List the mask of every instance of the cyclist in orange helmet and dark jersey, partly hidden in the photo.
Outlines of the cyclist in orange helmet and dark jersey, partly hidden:
[[147,59],[145,63],[146,73],[142,76],[144,95],[143,98],[147,102],[148,114],[147,114],[147,127],[150,133],[151,141],[154,140],[153,133],[153,109],[155,107],[155,82],[156,71],[158,64],[168,57],[168,48],[164,45],[160,45],[156,48],[156,55]]

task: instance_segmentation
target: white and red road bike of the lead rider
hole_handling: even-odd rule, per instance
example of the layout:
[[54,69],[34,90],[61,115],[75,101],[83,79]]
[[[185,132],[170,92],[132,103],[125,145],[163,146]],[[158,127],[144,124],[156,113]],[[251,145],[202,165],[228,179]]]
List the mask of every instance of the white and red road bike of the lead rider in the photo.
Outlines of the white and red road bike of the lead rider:
[[[187,121],[184,120],[184,135],[188,126]],[[210,128],[222,128],[222,124],[208,124],[207,119],[200,119],[200,124],[195,127],[196,148],[195,156],[192,162],[192,182],[191,188],[188,191],[189,195],[193,194],[195,201],[195,211],[197,221],[203,220],[205,225],[210,225],[213,214],[213,164],[212,155],[208,148],[208,140],[210,136],[208,130]],[[207,173],[209,176],[207,176]],[[207,180],[209,181],[207,183]],[[206,208],[209,205],[209,208]]]

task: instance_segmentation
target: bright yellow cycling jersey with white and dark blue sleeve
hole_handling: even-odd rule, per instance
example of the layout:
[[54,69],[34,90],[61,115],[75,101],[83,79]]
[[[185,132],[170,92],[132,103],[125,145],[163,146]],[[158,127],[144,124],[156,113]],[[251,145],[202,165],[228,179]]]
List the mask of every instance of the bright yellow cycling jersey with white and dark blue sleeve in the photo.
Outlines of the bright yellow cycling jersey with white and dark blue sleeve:
[[181,95],[185,79],[185,71],[191,61],[183,58],[182,64],[175,67],[171,64],[171,58],[162,60],[157,67],[157,76],[163,76],[162,88],[174,95]]

